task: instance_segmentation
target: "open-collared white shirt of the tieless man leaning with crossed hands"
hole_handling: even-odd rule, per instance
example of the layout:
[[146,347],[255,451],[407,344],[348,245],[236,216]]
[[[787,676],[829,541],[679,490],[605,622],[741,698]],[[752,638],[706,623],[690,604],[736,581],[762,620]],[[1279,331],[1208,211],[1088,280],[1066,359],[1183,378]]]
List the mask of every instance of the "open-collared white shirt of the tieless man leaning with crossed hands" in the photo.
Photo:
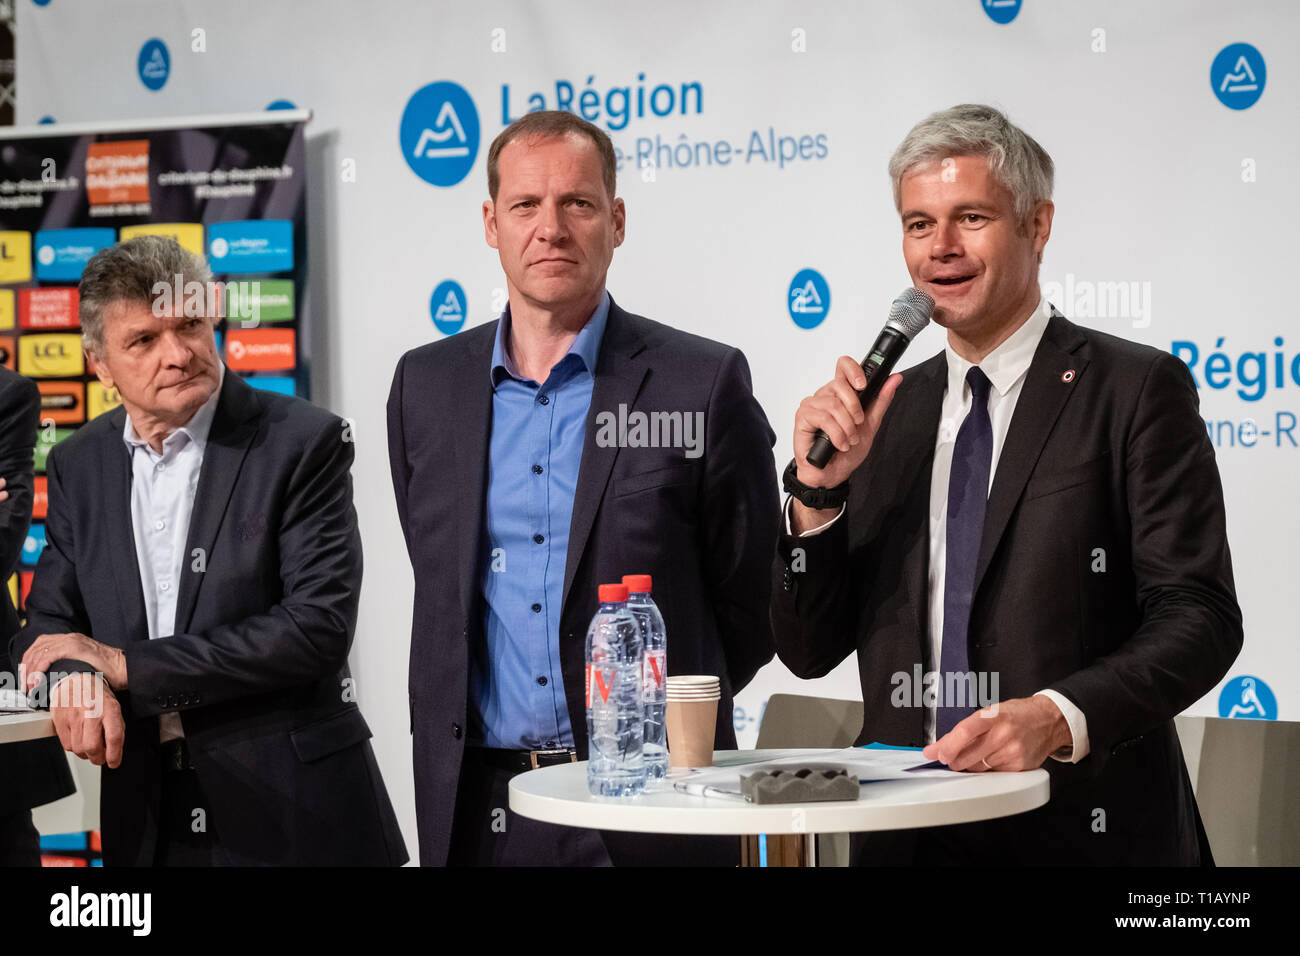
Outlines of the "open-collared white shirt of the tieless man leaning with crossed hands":
[[[225,381],[224,365],[220,381]],[[122,441],[131,453],[131,531],[150,640],[176,633],[176,598],[187,561],[190,514],[203,468],[203,450],[221,398],[220,381],[212,398],[162,440],[161,454],[135,433],[130,412],[126,415]],[[181,714],[159,715],[161,741],[182,736]]]

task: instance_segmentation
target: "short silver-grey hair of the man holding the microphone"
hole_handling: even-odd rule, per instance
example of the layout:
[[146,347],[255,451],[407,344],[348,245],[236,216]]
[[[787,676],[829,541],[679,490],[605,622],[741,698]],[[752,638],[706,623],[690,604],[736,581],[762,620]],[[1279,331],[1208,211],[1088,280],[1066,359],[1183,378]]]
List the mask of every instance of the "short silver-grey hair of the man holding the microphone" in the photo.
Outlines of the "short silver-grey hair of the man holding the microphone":
[[1014,199],[1018,224],[1039,202],[1052,198],[1054,166],[1046,150],[1006,114],[979,103],[931,113],[911,127],[889,159],[894,208],[902,212],[902,177],[949,156],[983,156],[993,178]]

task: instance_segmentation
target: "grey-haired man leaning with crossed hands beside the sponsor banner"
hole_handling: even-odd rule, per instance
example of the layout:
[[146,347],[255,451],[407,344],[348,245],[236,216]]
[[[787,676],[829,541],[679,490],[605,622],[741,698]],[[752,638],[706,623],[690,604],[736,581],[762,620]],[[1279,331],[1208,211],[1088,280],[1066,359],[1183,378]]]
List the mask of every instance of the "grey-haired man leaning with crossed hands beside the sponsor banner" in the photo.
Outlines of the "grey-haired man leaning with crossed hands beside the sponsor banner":
[[64,747],[107,767],[107,864],[399,865],[347,670],[351,431],[225,368],[194,308],[209,281],[160,237],[87,263],[84,346],[122,405],[49,454],[12,657],[29,687],[48,675]]

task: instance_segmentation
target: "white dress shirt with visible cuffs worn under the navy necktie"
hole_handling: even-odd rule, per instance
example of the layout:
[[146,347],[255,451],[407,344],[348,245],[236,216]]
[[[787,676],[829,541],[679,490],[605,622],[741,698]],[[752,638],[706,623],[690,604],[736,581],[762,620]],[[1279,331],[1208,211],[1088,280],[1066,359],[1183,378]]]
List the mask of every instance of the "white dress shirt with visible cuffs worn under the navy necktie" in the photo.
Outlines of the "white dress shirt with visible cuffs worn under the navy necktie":
[[[997,473],[997,460],[1006,444],[1006,433],[1011,425],[1011,415],[1015,412],[1015,403],[1019,401],[1020,389],[1024,385],[1030,363],[1034,362],[1034,352],[1039,347],[1039,339],[1048,326],[1052,310],[1041,295],[1034,313],[1020,328],[1002,342],[997,349],[984,356],[979,363],[980,369],[988,376],[992,388],[988,393],[988,418],[993,428],[993,457],[989,462],[988,485],[993,488],[993,476]],[[948,479],[953,466],[953,444],[957,441],[957,429],[971,407],[971,392],[966,384],[966,373],[971,363],[953,351],[952,345],[944,345],[948,359],[948,385],[944,390],[942,410],[939,416],[939,434],[935,438],[935,463],[930,480],[930,659],[940,661],[944,641],[944,571],[948,548]],[[829,528],[844,515],[840,514],[826,524],[803,532],[800,537],[816,535]],[[790,531],[789,498],[785,506],[785,529]],[[936,687],[942,687],[942,683]],[[983,688],[980,688],[983,689]],[[1056,760],[1078,763],[1088,756],[1088,722],[1074,704],[1056,691],[1039,691],[1039,695],[1048,697],[1060,708],[1070,726],[1072,747],[1067,754],[1053,753]],[[1035,695],[1037,696],[1037,695]],[[926,743],[933,743],[937,705],[926,709]]]

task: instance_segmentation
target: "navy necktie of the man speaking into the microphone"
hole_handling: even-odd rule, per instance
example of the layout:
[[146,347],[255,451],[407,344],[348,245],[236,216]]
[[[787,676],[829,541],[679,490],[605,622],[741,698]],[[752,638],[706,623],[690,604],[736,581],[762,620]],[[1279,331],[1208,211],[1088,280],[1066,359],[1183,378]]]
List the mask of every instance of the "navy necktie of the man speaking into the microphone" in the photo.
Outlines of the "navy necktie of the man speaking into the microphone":
[[988,419],[988,376],[979,369],[979,365],[972,365],[966,373],[966,384],[971,389],[971,410],[957,432],[953,467],[948,479],[944,643],[939,667],[936,740],[950,731],[958,721],[979,709],[975,700],[979,682],[966,682],[965,676],[957,675],[970,672],[967,637],[971,598],[975,591],[975,564],[979,561],[984,511],[988,507],[993,425]]

